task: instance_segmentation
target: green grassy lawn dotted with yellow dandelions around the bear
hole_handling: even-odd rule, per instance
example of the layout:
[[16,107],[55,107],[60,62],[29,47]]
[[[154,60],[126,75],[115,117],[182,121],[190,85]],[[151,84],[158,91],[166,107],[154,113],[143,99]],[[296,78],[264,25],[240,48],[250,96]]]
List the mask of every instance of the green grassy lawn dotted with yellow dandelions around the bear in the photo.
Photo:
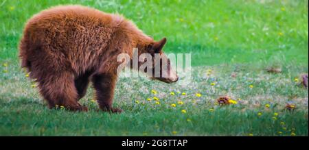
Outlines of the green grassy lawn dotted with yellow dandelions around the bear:
[[[28,18],[68,3],[124,14],[155,39],[167,37],[166,52],[192,53],[192,81],[119,79],[122,114],[99,112],[92,88],[80,100],[89,112],[49,110],[19,66],[17,45]],[[1,136],[308,136],[308,89],[298,86],[308,73],[307,0],[3,0],[0,21]],[[268,73],[271,66],[282,73]],[[237,103],[218,105],[225,95]]]

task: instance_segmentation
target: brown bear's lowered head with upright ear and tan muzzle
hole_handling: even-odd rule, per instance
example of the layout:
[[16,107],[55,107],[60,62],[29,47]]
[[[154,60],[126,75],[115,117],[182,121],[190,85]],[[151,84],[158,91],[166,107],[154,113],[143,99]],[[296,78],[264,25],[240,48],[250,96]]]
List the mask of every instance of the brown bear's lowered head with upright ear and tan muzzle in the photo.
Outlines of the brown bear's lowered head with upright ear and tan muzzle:
[[165,43],[166,38],[163,38],[158,42],[153,41],[148,43],[148,45],[144,47],[144,51],[141,51],[141,53],[150,54],[151,59],[140,57],[142,59],[139,59],[139,66],[142,66],[145,62],[151,63],[148,64],[148,68],[144,68],[144,73],[146,73],[151,79],[157,79],[161,82],[171,84],[173,82],[177,82],[179,77],[176,75],[176,71],[172,68],[170,59],[168,59],[167,55],[163,53]]

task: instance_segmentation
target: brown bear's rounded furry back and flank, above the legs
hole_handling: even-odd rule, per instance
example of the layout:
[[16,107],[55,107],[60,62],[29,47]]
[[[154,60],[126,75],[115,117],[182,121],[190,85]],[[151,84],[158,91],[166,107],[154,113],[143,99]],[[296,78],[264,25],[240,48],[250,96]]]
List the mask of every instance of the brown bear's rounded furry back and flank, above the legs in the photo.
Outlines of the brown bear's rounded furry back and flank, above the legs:
[[52,62],[61,60],[63,66],[83,71],[100,60],[98,57],[106,51],[113,32],[123,21],[122,16],[80,5],[43,10],[27,22],[21,56],[32,55],[30,61],[40,61],[41,55],[45,59],[50,55]]

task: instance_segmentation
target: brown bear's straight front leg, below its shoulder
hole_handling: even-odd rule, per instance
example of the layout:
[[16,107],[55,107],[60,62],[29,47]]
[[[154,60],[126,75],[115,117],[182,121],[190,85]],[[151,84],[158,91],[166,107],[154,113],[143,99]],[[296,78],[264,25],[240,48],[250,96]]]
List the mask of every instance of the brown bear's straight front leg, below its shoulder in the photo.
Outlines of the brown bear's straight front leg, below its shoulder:
[[98,73],[93,75],[92,82],[96,90],[96,98],[100,109],[106,112],[119,113],[119,108],[113,108],[114,89],[117,81],[117,75],[112,73]]

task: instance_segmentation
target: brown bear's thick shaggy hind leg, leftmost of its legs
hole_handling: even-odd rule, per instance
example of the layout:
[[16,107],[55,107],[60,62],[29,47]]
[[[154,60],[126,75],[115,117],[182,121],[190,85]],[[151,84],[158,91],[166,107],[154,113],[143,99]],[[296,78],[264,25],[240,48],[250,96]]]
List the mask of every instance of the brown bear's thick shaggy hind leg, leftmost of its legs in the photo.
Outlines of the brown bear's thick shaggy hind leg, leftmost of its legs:
[[41,82],[38,81],[38,87],[41,95],[49,103],[49,108],[58,105],[68,110],[87,111],[87,108],[77,101],[78,92],[71,73],[49,74],[49,77],[44,77]]

